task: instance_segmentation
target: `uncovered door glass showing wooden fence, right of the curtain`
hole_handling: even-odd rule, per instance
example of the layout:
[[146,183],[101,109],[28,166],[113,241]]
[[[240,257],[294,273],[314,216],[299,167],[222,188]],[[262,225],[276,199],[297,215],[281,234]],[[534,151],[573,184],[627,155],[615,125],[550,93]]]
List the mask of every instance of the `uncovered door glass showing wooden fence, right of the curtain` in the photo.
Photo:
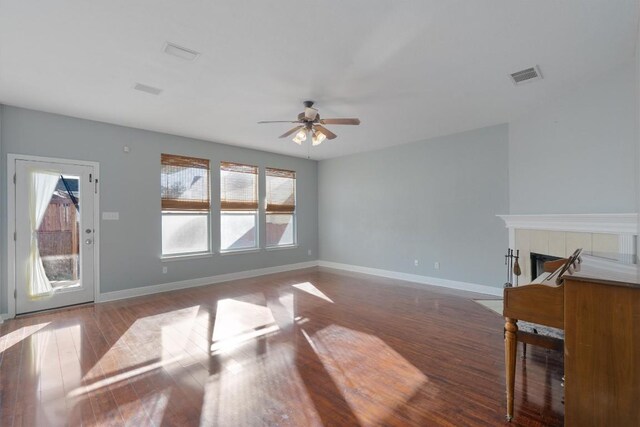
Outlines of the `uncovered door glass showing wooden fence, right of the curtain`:
[[79,182],[78,176],[60,176],[37,230],[42,266],[54,291],[80,286]]

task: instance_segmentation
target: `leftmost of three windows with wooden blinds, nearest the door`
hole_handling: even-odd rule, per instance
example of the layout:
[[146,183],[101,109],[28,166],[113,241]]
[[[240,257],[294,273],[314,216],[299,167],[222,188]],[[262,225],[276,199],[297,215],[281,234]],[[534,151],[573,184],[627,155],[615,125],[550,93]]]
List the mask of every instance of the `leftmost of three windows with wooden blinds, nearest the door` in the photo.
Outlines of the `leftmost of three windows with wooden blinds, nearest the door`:
[[162,154],[162,255],[210,252],[209,160]]

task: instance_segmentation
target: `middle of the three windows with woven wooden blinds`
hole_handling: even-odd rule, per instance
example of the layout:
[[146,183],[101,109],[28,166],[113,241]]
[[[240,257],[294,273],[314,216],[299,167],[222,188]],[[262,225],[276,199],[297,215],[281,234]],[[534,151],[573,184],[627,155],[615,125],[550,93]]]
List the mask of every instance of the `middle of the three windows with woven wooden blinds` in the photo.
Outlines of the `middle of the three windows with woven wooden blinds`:
[[258,167],[220,163],[220,251],[258,247]]

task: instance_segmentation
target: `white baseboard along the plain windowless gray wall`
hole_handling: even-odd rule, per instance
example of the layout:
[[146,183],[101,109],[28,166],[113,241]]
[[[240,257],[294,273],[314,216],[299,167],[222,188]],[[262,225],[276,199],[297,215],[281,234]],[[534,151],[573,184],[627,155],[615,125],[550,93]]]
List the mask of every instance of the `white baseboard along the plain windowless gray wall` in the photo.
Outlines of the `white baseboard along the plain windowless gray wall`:
[[423,285],[439,286],[442,288],[458,289],[461,291],[476,292],[492,296],[502,297],[503,289],[492,286],[478,285],[476,283],[459,282],[456,280],[441,279],[438,277],[420,276],[418,274],[400,273],[398,271],[381,270],[378,268],[361,267],[359,265],[341,264],[331,261],[318,261],[320,267],[336,268],[338,270],[353,271],[356,273],[371,274],[374,276],[387,277],[389,279],[406,280]]

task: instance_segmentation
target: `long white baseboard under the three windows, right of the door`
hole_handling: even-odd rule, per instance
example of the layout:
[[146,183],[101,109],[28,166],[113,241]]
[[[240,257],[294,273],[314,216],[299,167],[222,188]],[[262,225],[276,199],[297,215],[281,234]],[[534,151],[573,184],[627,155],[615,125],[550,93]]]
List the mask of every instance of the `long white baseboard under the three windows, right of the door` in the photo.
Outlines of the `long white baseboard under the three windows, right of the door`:
[[228,282],[230,280],[248,279],[251,277],[263,276],[265,274],[282,273],[285,271],[316,267],[317,265],[317,261],[308,261],[297,264],[279,265],[276,267],[258,268],[256,270],[239,271],[237,273],[219,274],[217,276],[201,277],[198,279],[181,280],[179,282],[161,283],[159,285],[140,286],[138,288],[125,289],[122,291],[101,293],[96,298],[96,302],[115,301],[125,298],[175,291],[178,289],[195,288],[198,286]]

